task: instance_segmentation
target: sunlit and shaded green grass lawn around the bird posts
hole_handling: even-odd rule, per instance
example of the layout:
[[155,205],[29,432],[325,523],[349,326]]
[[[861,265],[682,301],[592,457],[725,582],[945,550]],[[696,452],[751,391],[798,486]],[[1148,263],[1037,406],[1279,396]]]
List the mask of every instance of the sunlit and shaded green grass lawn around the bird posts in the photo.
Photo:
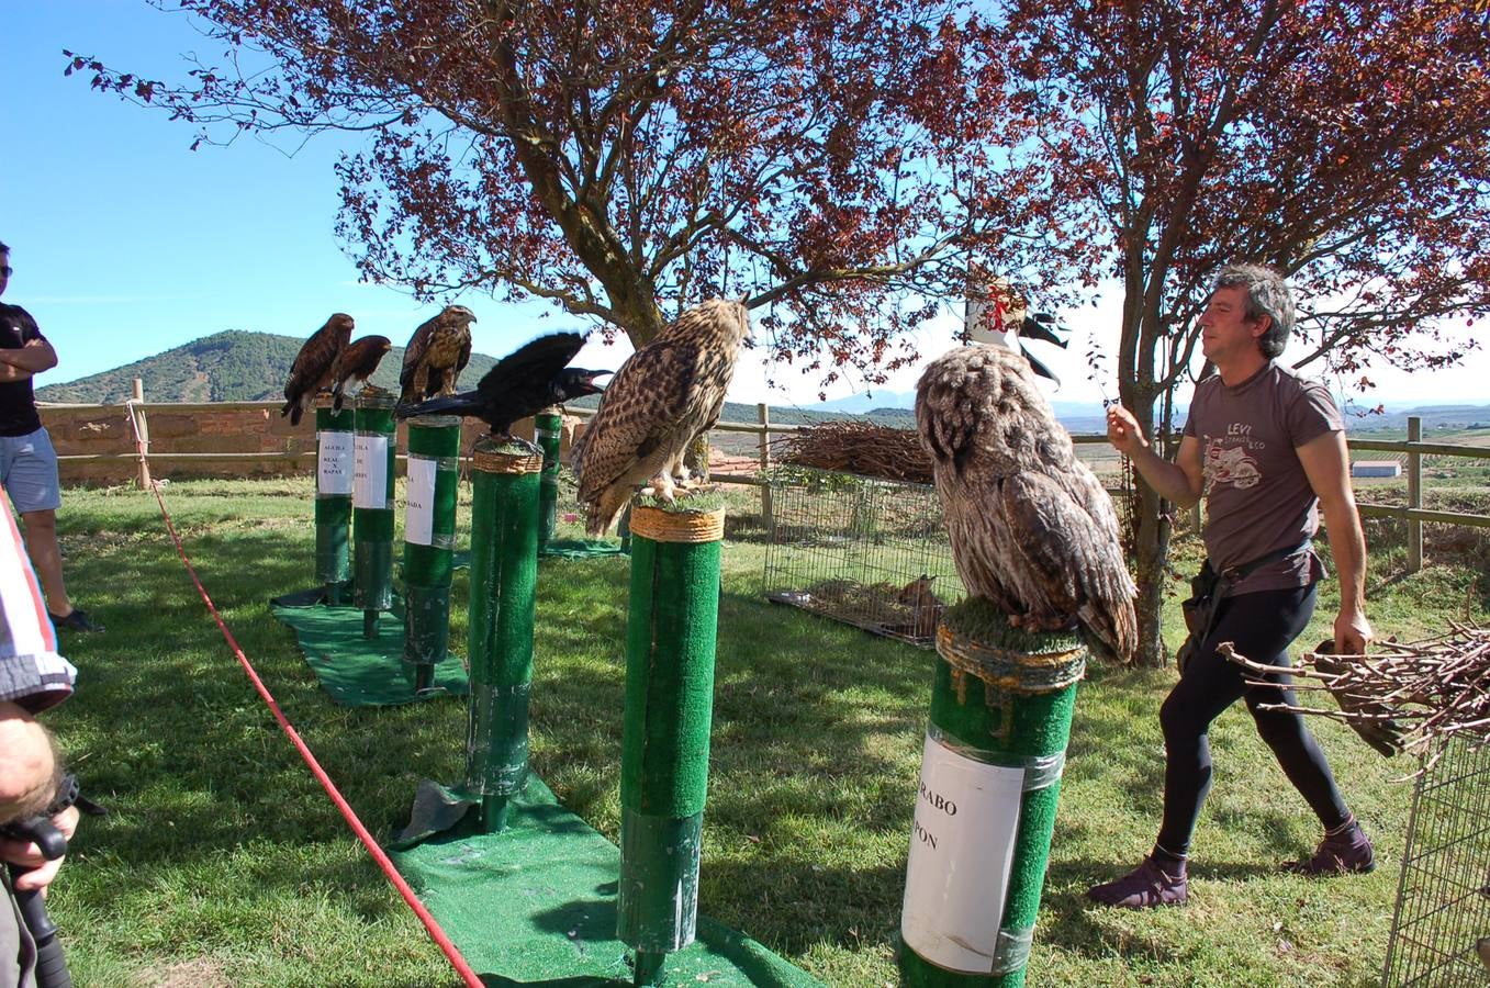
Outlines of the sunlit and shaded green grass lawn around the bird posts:
[[[465,705],[341,709],[317,687],[267,608],[313,583],[311,490],[308,478],[185,481],[165,499],[270,690],[387,836],[420,778],[459,778]],[[459,984],[253,693],[153,496],[72,490],[60,526],[69,587],[109,627],[64,641],[79,691],[48,715],[85,791],[113,811],[85,821],[51,900],[77,984]],[[1448,617],[1486,620],[1483,556],[1411,577],[1393,574],[1399,550],[1381,559],[1369,589],[1378,633],[1411,639]],[[933,654],[767,604],[763,562],[760,544],[726,545],[700,911],[827,984],[894,984]],[[538,593],[533,767],[614,840],[627,562],[547,560]],[[460,651],[465,595],[457,574]],[[1305,641],[1325,633],[1332,604],[1322,601]],[[1080,687],[1031,982],[1378,979],[1411,797],[1399,776],[1413,766],[1323,720],[1316,732],[1378,842],[1374,875],[1278,873],[1313,849],[1316,824],[1237,708],[1213,732],[1191,905],[1129,913],[1085,902],[1089,884],[1137,863],[1153,839],[1156,709],[1173,677],[1098,668]]]

